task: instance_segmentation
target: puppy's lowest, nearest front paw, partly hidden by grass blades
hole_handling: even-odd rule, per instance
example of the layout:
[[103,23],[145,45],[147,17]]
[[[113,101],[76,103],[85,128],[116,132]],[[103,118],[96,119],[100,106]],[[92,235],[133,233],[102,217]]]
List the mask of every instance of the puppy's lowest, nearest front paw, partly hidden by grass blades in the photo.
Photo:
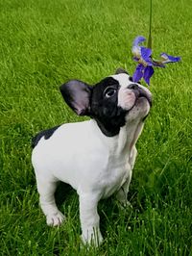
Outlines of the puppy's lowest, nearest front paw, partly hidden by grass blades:
[[95,247],[103,243],[103,240],[104,240],[100,231],[87,232],[85,235],[82,234],[81,238],[84,245],[90,245]]

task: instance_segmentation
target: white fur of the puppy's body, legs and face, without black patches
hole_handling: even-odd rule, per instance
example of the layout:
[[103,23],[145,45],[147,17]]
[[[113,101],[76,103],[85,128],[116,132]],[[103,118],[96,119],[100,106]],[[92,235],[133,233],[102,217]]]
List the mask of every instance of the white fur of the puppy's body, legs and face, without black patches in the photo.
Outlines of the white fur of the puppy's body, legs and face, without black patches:
[[99,200],[116,193],[121,203],[128,204],[127,193],[137,154],[135,142],[143,128],[142,119],[150,110],[145,98],[135,103],[135,95],[127,89],[131,84],[127,74],[112,77],[121,86],[118,105],[132,109],[118,135],[105,136],[94,119],[66,123],[49,140],[41,138],[32,155],[40,206],[47,224],[56,226],[64,219],[55,203],[54,192],[58,181],[68,183],[79,194],[82,239],[95,245],[103,240],[97,213]]

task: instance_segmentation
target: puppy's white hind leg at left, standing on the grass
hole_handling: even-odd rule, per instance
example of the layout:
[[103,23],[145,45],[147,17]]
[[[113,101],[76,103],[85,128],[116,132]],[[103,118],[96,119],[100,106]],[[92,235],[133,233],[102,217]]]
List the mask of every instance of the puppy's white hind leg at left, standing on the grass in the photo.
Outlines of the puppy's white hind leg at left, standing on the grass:
[[60,213],[55,201],[57,181],[36,175],[36,184],[39,193],[39,204],[46,216],[47,225],[60,225],[64,216]]

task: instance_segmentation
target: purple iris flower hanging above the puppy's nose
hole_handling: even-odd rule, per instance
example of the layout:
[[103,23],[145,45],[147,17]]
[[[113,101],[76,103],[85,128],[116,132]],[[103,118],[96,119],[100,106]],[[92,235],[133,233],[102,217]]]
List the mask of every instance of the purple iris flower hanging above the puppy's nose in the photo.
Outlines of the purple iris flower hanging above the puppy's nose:
[[173,57],[166,53],[161,53],[161,60],[156,61],[152,58],[152,49],[139,45],[145,40],[145,38],[139,36],[132,43],[133,60],[138,63],[132,75],[132,80],[133,82],[138,82],[143,78],[150,85],[150,78],[155,72],[153,66],[165,67],[165,64],[180,62],[180,57]]

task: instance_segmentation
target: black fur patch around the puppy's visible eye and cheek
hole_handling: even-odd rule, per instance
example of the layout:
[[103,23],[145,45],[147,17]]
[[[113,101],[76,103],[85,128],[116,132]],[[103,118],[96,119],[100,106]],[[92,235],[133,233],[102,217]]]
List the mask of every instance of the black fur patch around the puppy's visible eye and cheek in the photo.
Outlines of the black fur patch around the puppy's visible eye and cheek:
[[127,112],[117,106],[119,88],[119,82],[108,77],[96,84],[92,90],[90,116],[108,137],[117,135],[126,123]]

